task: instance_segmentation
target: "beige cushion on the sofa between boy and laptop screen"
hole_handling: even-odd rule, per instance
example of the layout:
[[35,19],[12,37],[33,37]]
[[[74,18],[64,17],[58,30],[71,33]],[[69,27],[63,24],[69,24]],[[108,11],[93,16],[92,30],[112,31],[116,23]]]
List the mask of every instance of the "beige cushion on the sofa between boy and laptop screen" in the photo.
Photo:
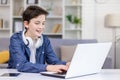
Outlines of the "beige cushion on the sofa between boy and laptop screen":
[[76,46],[61,46],[61,60],[62,61],[71,61],[72,56],[74,54]]

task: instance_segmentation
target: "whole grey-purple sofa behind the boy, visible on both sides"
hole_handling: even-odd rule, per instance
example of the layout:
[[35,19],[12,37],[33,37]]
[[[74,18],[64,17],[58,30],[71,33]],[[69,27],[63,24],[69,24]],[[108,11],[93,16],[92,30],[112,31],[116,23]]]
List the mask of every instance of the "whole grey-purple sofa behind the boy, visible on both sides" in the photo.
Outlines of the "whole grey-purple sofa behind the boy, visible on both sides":
[[[86,43],[97,43],[95,39],[61,39],[61,38],[50,38],[51,45],[53,50],[55,51],[56,55],[59,59],[62,60],[61,56],[61,47],[62,46],[76,46],[77,44],[86,44]],[[9,38],[0,38],[0,51],[2,50],[9,50]],[[69,55],[69,53],[68,53]],[[7,63],[0,64],[0,68],[6,68]],[[104,69],[111,69],[112,67],[112,58],[107,57],[105,63],[103,65]]]

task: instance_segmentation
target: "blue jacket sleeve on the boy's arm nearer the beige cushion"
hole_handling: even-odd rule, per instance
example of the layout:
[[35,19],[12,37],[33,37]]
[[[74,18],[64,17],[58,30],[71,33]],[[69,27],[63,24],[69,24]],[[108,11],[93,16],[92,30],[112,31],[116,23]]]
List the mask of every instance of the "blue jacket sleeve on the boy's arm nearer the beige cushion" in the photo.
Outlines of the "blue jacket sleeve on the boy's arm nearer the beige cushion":
[[52,49],[50,40],[46,38],[45,40],[46,46],[45,46],[45,53],[46,53],[46,62],[48,64],[63,64],[65,65],[66,62],[60,61],[58,57],[56,56],[55,52]]

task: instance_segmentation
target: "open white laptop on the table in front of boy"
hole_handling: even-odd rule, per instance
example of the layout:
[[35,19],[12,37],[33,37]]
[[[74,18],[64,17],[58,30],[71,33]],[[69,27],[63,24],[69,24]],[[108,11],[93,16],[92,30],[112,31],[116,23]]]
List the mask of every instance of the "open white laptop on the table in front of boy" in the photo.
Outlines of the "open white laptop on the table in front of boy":
[[73,78],[99,73],[111,45],[111,42],[78,44],[66,74],[58,74],[56,72],[40,72],[40,74],[60,78]]

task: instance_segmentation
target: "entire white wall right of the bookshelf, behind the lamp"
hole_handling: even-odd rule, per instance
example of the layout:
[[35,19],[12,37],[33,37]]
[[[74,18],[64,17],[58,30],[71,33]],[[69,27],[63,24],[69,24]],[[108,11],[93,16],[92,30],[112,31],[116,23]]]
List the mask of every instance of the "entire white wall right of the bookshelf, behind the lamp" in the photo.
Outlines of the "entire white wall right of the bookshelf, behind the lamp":
[[[105,27],[104,19],[107,14],[120,13],[120,0],[104,1],[104,3],[97,3],[95,0],[83,0],[83,39],[97,39],[98,42],[114,41],[113,29]],[[116,30],[116,35],[118,34],[120,29]],[[118,46],[120,42],[117,43],[116,68],[120,68],[120,47]],[[114,46],[112,48],[114,52]],[[109,55],[114,59],[113,53]]]

